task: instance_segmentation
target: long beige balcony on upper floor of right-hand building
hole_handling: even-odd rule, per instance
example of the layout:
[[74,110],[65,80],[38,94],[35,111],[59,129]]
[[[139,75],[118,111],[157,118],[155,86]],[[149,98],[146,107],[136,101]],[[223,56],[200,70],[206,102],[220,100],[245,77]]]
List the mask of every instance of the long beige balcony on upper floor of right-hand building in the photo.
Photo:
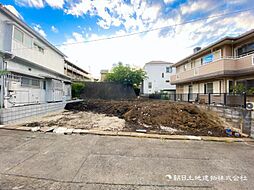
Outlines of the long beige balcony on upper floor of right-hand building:
[[[172,84],[192,82],[225,75],[237,75],[254,69],[254,54],[238,58],[221,58],[171,76]],[[253,70],[254,72],[254,70]]]

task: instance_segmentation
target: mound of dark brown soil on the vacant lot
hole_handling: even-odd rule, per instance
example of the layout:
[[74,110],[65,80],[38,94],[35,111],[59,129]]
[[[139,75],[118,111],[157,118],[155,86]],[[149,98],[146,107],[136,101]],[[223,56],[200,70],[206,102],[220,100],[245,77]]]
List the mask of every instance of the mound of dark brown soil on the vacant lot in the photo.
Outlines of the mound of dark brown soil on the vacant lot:
[[126,121],[124,131],[146,129],[150,133],[226,136],[225,123],[216,114],[192,104],[159,100],[85,100],[66,108],[117,116]]

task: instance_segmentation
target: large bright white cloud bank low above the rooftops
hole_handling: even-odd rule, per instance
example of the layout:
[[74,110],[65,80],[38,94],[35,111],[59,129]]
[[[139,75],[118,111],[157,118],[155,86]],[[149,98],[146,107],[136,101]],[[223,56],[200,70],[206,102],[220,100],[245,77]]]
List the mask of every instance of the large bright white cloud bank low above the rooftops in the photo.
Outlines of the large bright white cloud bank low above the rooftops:
[[[160,36],[160,31],[154,31],[141,36],[91,43],[80,42],[109,36],[73,33],[66,43],[79,43],[62,46],[60,49],[73,60],[78,58],[77,65],[86,69],[90,67],[91,73],[98,77],[101,69],[109,69],[119,61],[141,67],[151,60],[177,62],[192,54],[196,45],[204,47],[225,35],[238,35],[254,28],[252,20],[254,15],[251,12],[241,13],[224,19],[202,20],[169,28],[169,35],[165,36]],[[160,18],[153,27],[179,22],[182,22],[179,15],[172,19]],[[119,30],[115,35],[123,34],[126,34],[126,31]]]

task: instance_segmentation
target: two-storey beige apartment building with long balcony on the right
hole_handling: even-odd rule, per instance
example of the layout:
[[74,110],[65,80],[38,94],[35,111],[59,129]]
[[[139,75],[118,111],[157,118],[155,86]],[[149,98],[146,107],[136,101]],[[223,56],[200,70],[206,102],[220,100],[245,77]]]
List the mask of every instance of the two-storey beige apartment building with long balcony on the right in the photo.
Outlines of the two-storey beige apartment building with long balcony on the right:
[[173,66],[176,74],[170,79],[177,94],[231,93],[238,83],[252,88],[254,30],[238,37],[225,37],[203,49],[195,48],[192,55]]

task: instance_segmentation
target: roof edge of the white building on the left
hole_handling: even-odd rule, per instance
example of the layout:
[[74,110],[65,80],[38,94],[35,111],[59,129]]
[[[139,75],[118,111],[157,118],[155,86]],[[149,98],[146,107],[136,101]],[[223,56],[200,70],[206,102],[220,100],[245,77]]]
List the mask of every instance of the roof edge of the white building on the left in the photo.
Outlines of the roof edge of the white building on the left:
[[25,22],[23,22],[21,19],[19,19],[16,15],[14,15],[11,11],[9,11],[7,8],[5,8],[0,3],[0,11],[3,12],[6,16],[11,18],[13,21],[17,22],[20,26],[24,27],[27,31],[29,31],[31,34],[36,36],[39,40],[47,44],[51,49],[53,49],[55,52],[60,54],[63,57],[66,57],[65,54],[63,54],[59,49],[57,49],[54,45],[52,45],[49,41],[47,41],[44,37],[42,37],[39,33],[37,33],[34,29],[32,29],[30,26],[28,26]]

